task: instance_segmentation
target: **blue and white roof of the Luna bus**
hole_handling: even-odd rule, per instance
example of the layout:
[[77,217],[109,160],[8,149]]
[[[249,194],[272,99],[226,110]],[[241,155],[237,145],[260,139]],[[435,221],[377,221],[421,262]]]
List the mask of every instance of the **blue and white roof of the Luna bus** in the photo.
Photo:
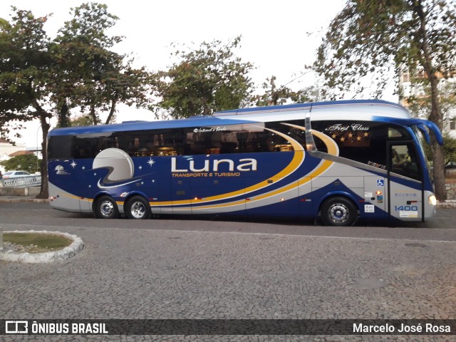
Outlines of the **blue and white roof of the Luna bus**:
[[402,106],[384,100],[339,100],[331,102],[299,103],[293,105],[274,105],[267,107],[240,108],[224,110],[212,116],[196,116],[179,120],[128,121],[110,125],[78,126],[56,128],[49,132],[54,135],[79,135],[89,133],[109,133],[113,131],[172,129],[186,127],[206,127],[217,125],[236,125],[277,120],[299,120],[305,113],[311,113],[311,120],[378,120],[378,118],[409,119]]

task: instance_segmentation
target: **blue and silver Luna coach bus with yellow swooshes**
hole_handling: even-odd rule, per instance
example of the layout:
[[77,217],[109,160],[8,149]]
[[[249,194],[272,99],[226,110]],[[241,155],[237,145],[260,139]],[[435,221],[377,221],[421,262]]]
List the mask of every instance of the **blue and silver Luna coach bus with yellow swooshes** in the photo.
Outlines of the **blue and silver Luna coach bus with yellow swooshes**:
[[95,217],[160,214],[425,221],[423,143],[437,125],[383,100],[242,108],[48,134],[50,204]]

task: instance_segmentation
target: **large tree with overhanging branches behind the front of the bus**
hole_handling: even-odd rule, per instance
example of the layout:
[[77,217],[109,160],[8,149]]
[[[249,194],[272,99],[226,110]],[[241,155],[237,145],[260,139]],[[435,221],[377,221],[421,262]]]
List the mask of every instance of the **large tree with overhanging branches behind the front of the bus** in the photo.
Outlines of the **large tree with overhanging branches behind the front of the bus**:
[[[453,1],[349,0],[328,28],[313,68],[325,86],[361,93],[369,79],[378,97],[390,75],[423,70],[430,84],[429,120],[442,128],[437,75],[456,72],[456,9]],[[443,149],[432,137],[435,195],[447,198]]]

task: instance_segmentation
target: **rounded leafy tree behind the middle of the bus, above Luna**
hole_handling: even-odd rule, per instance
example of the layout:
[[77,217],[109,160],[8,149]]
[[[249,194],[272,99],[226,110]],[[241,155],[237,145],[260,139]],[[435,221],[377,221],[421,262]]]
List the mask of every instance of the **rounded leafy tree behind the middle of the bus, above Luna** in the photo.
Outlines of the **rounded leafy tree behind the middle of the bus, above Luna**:
[[180,61],[168,71],[157,73],[156,93],[161,98],[155,108],[165,108],[172,118],[210,115],[217,110],[239,108],[252,93],[248,76],[251,63],[242,62],[233,50],[241,37],[230,43],[203,42],[196,50],[177,50]]

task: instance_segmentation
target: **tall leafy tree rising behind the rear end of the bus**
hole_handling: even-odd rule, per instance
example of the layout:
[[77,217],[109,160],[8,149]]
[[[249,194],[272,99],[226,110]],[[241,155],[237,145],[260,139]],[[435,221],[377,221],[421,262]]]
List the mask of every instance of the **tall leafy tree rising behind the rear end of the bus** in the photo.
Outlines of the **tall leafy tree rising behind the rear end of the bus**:
[[[61,65],[58,88],[54,94],[59,109],[79,107],[101,123],[100,113],[108,113],[104,123],[111,122],[118,103],[145,108],[154,83],[145,68],[135,69],[133,59],[111,48],[123,37],[107,36],[117,16],[108,13],[106,5],[82,4],[71,9],[73,19],[59,31],[54,53]],[[59,123],[69,124],[69,111],[63,111]]]

